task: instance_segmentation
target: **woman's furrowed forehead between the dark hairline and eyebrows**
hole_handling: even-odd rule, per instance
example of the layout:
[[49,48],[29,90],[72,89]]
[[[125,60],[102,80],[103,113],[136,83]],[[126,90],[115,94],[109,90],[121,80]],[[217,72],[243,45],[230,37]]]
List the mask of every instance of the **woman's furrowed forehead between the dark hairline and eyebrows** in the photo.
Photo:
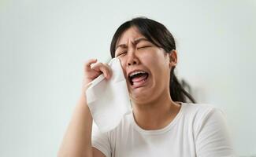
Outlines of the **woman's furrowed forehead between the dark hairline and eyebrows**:
[[129,40],[132,40],[132,42],[134,42],[135,39],[138,38],[145,37],[139,32],[137,27],[130,27],[128,28],[128,30],[124,31],[124,33],[117,40],[116,46],[118,46],[119,44],[126,44]]

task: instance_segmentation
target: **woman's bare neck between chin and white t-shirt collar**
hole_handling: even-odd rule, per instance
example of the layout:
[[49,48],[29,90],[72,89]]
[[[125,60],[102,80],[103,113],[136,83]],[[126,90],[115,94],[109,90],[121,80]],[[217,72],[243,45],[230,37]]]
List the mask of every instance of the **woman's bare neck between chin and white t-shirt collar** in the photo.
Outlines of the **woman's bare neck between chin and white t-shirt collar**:
[[135,122],[143,130],[164,128],[173,121],[179,111],[180,105],[173,102],[169,93],[160,94],[160,97],[147,104],[133,104]]

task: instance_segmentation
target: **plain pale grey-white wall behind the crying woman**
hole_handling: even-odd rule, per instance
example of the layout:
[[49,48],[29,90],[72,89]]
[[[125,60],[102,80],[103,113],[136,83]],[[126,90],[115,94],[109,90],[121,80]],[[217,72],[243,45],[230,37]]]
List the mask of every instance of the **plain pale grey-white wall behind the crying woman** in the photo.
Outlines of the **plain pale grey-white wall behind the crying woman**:
[[109,60],[114,31],[147,16],[176,38],[180,79],[222,108],[240,156],[256,155],[256,2],[0,1],[0,156],[56,156],[83,63]]

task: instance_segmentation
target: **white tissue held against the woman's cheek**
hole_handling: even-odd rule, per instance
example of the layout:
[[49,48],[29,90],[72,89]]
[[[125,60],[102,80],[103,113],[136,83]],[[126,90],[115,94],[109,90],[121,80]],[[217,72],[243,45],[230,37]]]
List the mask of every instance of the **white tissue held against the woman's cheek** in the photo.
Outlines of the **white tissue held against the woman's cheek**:
[[91,116],[102,133],[113,130],[124,115],[132,111],[120,60],[113,58],[109,61],[109,67],[112,69],[111,78],[107,80],[103,74],[99,75],[90,82],[86,91]]

